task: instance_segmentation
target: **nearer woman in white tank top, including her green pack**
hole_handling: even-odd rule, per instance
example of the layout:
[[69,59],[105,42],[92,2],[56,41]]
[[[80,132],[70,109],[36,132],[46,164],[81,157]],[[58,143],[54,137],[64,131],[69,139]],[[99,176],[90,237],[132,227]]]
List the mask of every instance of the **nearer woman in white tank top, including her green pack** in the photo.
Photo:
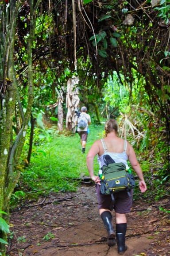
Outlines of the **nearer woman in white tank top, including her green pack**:
[[[96,155],[100,165],[99,176],[95,176],[93,172],[93,160]],[[96,183],[99,213],[108,232],[108,246],[113,246],[117,242],[120,254],[127,250],[126,213],[130,212],[133,200],[132,188],[135,186],[133,175],[127,171],[129,168],[127,160],[139,177],[140,191],[145,192],[147,186],[134,149],[126,140],[118,137],[116,120],[110,119],[105,124],[105,138],[94,142],[89,150],[87,167],[91,179]],[[116,216],[116,240],[111,214],[113,209]]]

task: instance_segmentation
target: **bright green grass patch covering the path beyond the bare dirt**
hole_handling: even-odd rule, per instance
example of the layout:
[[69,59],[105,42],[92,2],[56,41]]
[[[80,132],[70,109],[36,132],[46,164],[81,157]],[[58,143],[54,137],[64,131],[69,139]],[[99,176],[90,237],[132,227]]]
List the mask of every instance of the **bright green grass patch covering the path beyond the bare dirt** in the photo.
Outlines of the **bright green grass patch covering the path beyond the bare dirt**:
[[[22,173],[23,188],[38,191],[38,194],[49,192],[76,191],[76,178],[89,176],[86,167],[86,155],[93,142],[101,137],[104,127],[91,125],[87,140],[86,152],[81,153],[79,135],[56,136],[50,142],[34,146],[30,166]],[[98,172],[97,158],[94,170]]]

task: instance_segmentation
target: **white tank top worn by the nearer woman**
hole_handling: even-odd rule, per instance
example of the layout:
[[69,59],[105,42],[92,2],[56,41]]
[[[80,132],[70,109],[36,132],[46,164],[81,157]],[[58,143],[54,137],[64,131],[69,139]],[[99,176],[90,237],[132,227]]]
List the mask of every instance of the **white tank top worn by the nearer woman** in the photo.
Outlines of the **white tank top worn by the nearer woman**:
[[100,165],[100,168],[103,167],[104,163],[104,155],[108,155],[110,157],[112,157],[112,159],[115,161],[115,163],[124,163],[126,165],[126,168],[128,169],[128,155],[126,153],[127,150],[127,141],[124,140],[124,150],[121,153],[116,153],[116,152],[108,152],[106,143],[104,141],[104,139],[101,139],[101,143],[103,145],[103,149],[104,149],[104,153],[101,156],[98,156],[98,163]]

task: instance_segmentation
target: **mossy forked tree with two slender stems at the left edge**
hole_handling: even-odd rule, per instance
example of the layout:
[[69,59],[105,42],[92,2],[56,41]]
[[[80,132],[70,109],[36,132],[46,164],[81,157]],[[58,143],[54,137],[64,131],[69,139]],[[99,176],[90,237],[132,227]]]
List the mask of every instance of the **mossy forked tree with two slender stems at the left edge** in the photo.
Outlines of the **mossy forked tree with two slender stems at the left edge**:
[[[6,5],[3,6],[2,24],[0,24],[1,39],[4,38],[4,51],[0,52],[0,210],[9,213],[9,201],[16,183],[19,179],[19,170],[16,168],[19,162],[19,157],[22,152],[25,135],[27,132],[28,121],[31,115],[31,107],[33,104],[33,70],[32,70],[32,44],[35,32],[35,12],[40,0],[37,1],[36,6],[33,5],[33,0],[30,4],[30,32],[27,38],[27,62],[28,62],[28,96],[27,96],[27,110],[23,114],[23,109],[19,96],[19,86],[15,74],[14,64],[14,45],[16,33],[16,20],[19,15],[19,8],[21,1],[11,0],[8,7],[10,17],[8,26],[4,25],[6,20]],[[2,7],[1,7],[2,8]],[[2,9],[1,9],[2,10]],[[5,26],[5,28],[4,28]],[[7,33],[5,29],[8,28]],[[3,70],[2,70],[3,68]],[[2,72],[3,71],[3,72]],[[15,115],[15,104],[18,101],[19,114],[21,116],[22,124],[19,133],[12,144],[13,136],[13,117]],[[1,216],[1,214],[0,214]],[[6,234],[0,233],[0,238],[6,239]],[[0,252],[5,255],[5,246],[0,243]]]

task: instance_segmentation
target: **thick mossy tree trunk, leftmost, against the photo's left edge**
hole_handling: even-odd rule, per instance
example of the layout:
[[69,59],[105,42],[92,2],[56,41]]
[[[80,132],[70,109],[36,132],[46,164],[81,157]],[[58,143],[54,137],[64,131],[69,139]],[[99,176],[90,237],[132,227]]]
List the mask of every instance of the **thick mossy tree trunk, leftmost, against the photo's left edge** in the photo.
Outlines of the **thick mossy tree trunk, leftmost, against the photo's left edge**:
[[[6,201],[6,188],[8,185],[8,163],[10,158],[11,138],[12,138],[12,121],[15,110],[15,72],[14,72],[14,42],[15,42],[15,29],[16,19],[18,16],[19,6],[21,3],[18,1],[16,6],[13,5],[10,12],[10,21],[8,24],[8,32],[4,35],[4,27],[1,24],[1,38],[4,38],[4,51],[1,52],[1,113],[0,113],[0,210],[9,212],[8,203]],[[2,21],[4,20],[6,10],[3,6]],[[1,48],[2,49],[2,48]],[[2,70],[3,68],[3,70]],[[0,213],[2,217],[2,214]],[[1,231],[0,238],[6,239],[6,234]],[[0,244],[0,252],[5,255],[5,245]]]

